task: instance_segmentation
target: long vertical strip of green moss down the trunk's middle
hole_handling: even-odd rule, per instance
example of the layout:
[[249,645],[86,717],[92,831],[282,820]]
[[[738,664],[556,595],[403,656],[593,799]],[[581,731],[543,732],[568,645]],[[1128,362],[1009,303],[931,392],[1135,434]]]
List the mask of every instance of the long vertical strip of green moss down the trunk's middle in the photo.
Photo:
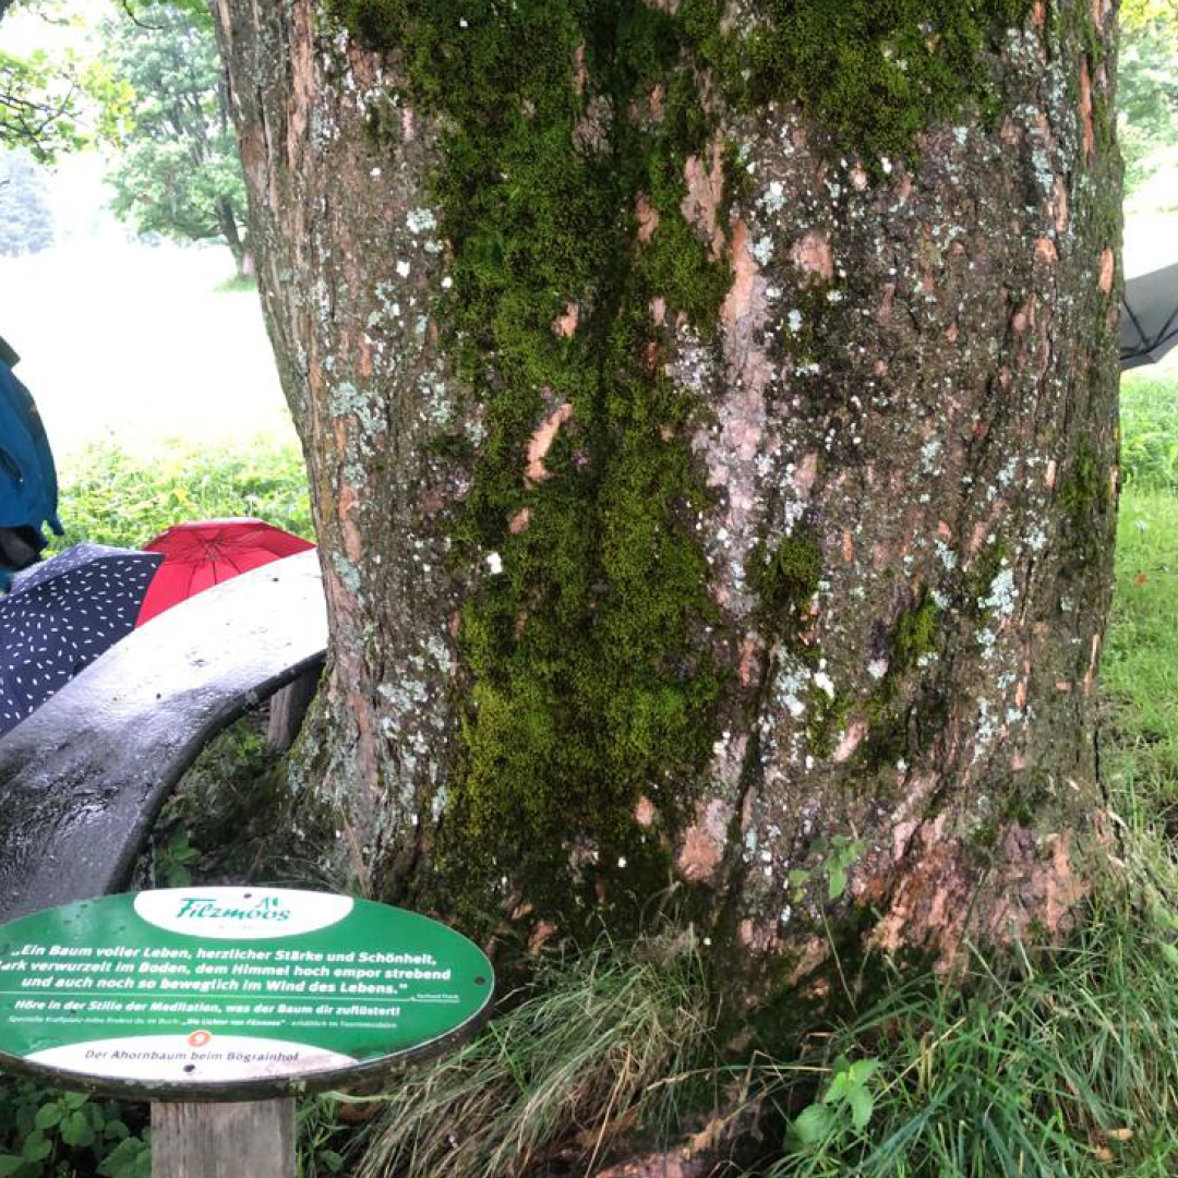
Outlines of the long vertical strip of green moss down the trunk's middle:
[[[720,691],[693,638],[713,613],[693,405],[649,312],[661,298],[707,335],[730,282],[680,207],[712,133],[697,71],[719,26],[699,5],[623,0],[331,7],[445,117],[442,318],[487,425],[456,560],[492,571],[462,611],[470,686],[441,862],[469,925],[498,919],[501,875],[537,915],[637,911],[670,875],[638,798],[674,826]],[[642,113],[656,86],[657,118]],[[640,197],[659,219],[646,241]]]

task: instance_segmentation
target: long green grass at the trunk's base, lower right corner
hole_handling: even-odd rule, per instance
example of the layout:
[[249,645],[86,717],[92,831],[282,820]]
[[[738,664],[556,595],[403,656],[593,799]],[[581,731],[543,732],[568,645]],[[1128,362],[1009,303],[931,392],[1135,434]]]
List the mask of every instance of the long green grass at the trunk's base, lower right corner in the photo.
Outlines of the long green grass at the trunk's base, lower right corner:
[[762,1064],[787,1125],[769,1178],[1176,1172],[1178,872],[1147,832],[1126,845],[1066,947],[893,980],[819,1051]]

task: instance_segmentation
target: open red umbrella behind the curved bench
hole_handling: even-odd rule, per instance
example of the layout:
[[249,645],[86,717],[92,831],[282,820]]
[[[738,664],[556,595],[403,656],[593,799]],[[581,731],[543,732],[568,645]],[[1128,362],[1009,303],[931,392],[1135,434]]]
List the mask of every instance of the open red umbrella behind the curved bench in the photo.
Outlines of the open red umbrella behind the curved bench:
[[178,523],[144,544],[163,552],[135,626],[165,609],[271,561],[305,552],[315,544],[262,519],[197,519]]

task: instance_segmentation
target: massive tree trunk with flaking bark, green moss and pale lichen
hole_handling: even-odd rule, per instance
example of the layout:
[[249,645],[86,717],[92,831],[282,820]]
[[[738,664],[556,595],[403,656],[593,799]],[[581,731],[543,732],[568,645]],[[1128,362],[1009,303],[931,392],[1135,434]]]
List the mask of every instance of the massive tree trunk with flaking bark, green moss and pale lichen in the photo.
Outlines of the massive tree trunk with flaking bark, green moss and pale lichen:
[[[536,944],[1058,935],[1110,0],[216,0],[332,649],[298,833]],[[822,914],[826,914],[823,925]]]

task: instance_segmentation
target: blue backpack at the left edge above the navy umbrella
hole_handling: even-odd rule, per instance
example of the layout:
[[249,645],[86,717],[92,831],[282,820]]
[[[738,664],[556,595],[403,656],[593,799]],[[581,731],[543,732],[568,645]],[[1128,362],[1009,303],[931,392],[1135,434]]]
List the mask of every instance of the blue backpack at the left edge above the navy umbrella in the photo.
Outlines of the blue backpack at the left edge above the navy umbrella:
[[37,560],[47,524],[59,536],[58,474],[37,405],[0,339],[0,583]]

